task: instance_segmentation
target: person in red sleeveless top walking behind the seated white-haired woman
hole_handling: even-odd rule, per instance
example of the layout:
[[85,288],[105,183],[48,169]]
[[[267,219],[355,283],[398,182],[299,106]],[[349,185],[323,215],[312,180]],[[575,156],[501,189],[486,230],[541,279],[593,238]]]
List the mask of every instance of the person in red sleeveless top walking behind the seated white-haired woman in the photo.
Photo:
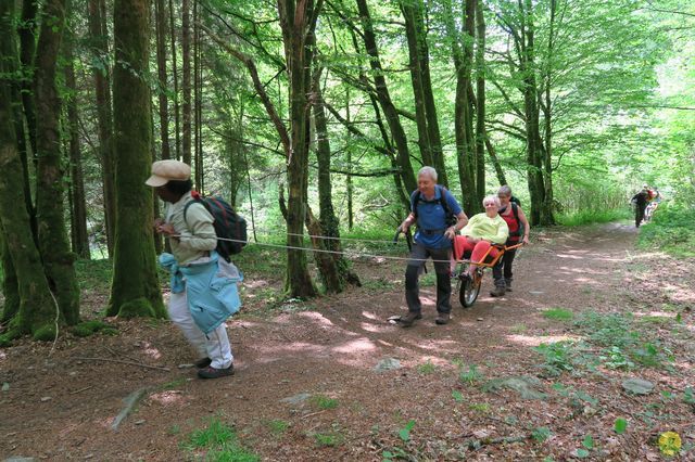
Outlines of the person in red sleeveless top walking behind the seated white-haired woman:
[[[529,220],[526,219],[526,215],[521,207],[511,202],[511,188],[503,185],[497,190],[497,197],[500,197],[500,216],[507,222],[509,227],[509,239],[506,245],[516,245],[519,241],[525,244],[529,243],[529,232],[531,226]],[[495,280],[495,288],[490,293],[493,297],[502,297],[506,292],[511,292],[511,264],[514,257],[517,254],[517,249],[506,251],[497,265],[492,268],[492,275]]]

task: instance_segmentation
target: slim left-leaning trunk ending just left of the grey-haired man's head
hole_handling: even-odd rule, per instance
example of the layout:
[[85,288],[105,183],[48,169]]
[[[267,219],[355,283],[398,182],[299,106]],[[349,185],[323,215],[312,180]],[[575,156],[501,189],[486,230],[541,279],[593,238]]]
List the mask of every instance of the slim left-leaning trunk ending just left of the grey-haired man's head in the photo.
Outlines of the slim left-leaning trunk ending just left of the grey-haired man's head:
[[367,0],[356,1],[357,10],[359,11],[359,18],[362,20],[362,25],[364,28],[363,37],[365,41],[365,48],[367,50],[367,54],[369,54],[370,56],[369,64],[371,66],[371,69],[374,70],[374,81],[377,90],[377,98],[379,99],[379,104],[383,110],[383,115],[387,118],[387,123],[389,124],[389,129],[391,130],[393,142],[395,143],[397,165],[401,168],[401,178],[403,179],[403,183],[405,184],[405,188],[408,192],[415,191],[417,189],[417,180],[413,171],[413,165],[410,164],[410,154],[408,152],[407,139],[405,137],[405,130],[403,130],[403,126],[401,125],[401,120],[399,119],[399,114],[395,110],[395,106],[393,105],[393,102],[391,101],[389,88],[387,87],[387,80],[383,77],[384,72],[379,60],[377,38],[371,25],[371,17],[369,15]]

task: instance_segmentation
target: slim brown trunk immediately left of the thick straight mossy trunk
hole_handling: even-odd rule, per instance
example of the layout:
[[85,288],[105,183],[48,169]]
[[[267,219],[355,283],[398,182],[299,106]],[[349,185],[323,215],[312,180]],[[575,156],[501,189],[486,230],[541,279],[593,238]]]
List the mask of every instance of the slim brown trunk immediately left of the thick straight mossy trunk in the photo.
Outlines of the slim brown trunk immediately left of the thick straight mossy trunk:
[[111,70],[109,68],[109,29],[104,0],[89,0],[89,35],[94,65],[94,90],[97,119],[99,125],[99,154],[103,183],[104,222],[106,227],[106,248],[113,257],[116,198],[114,191],[113,112],[111,106]]

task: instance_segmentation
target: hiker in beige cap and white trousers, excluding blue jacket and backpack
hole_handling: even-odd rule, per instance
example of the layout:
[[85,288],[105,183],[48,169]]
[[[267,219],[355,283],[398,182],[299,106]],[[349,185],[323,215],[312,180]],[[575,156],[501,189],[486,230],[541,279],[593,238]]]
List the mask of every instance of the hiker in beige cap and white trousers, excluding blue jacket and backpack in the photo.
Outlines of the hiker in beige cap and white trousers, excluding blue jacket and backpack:
[[[217,245],[213,217],[200,202],[193,200],[190,177],[191,167],[187,164],[157,161],[152,164],[152,175],[146,181],[146,184],[155,188],[156,194],[166,203],[165,218],[156,219],[154,229],[169,239],[172,255],[176,260],[173,268],[217,265],[217,259],[211,258],[211,252]],[[174,272],[173,281],[176,273],[180,274],[180,271]],[[203,333],[191,315],[186,281],[179,278],[176,282],[172,284],[168,313],[200,355],[195,362],[198,375],[201,378],[217,378],[233,374],[233,356],[225,323],[207,334]]]

